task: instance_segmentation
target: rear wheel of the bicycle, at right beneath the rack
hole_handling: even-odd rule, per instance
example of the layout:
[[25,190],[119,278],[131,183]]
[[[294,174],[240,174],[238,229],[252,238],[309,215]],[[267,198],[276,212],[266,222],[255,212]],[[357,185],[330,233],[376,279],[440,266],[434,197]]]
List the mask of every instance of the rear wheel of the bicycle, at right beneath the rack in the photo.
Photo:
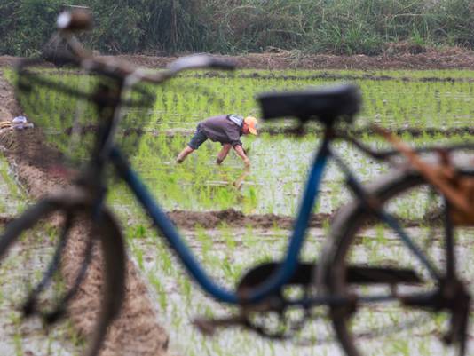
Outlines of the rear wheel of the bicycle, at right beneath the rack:
[[[462,170],[461,174],[472,177],[474,171]],[[440,279],[407,249],[397,233],[361,202],[348,205],[338,213],[329,248],[323,254],[328,292],[353,300],[351,305],[331,308],[339,342],[350,356],[439,353],[441,344],[432,341],[431,336],[446,336],[451,313],[443,312],[442,307],[436,310],[427,305],[407,306],[403,300],[434,295],[440,280],[446,279],[446,261],[449,259],[455,275],[466,287],[474,274],[470,266],[474,253],[466,248],[471,244],[474,230],[461,226],[446,230],[449,220],[443,197],[415,171],[392,172],[368,191],[382,204],[383,210],[397,218],[403,230],[431,261]],[[446,231],[452,231],[455,246],[462,247],[455,253],[451,249],[454,258],[447,257]],[[377,273],[383,267],[387,273],[369,273],[362,276],[365,281],[360,281],[360,276],[354,276],[350,269],[360,265],[368,269],[377,267]],[[467,292],[472,294],[469,288]],[[454,354],[459,349],[451,347],[440,354],[447,352]]]

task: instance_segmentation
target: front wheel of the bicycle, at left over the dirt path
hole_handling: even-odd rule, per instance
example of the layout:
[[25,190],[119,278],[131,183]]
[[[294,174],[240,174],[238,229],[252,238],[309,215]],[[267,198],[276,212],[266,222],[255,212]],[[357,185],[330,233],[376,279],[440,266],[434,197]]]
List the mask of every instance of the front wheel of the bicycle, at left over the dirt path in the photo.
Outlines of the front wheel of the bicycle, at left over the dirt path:
[[[2,295],[9,296],[0,298],[0,310],[20,309],[23,316],[40,314],[46,322],[58,319],[62,306],[75,297],[90,265],[88,256],[100,256],[99,273],[94,271],[93,278],[99,275],[100,281],[94,283],[99,284],[95,287],[102,296],[92,297],[100,300],[100,305],[94,327],[87,328],[86,345],[81,347],[87,356],[99,353],[107,327],[120,310],[125,275],[122,234],[115,219],[104,209],[94,222],[91,211],[91,204],[80,197],[64,194],[46,198],[8,224],[0,237],[0,278],[6,281],[14,273],[13,281],[0,287],[0,291],[4,289]],[[83,240],[81,249],[76,250],[83,266],[64,283],[57,273],[59,263],[64,263],[60,258],[78,239]],[[20,322],[21,315],[15,319]],[[19,352],[18,345],[15,351]]]

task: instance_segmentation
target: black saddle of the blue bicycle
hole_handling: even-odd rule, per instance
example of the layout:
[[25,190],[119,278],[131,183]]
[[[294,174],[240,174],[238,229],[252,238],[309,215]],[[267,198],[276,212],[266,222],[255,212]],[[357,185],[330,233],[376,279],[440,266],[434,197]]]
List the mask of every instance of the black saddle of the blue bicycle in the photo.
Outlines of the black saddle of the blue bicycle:
[[352,84],[304,91],[266,92],[260,94],[257,100],[266,120],[293,116],[303,122],[317,120],[326,124],[334,123],[338,117],[351,120],[361,103],[359,89]]

